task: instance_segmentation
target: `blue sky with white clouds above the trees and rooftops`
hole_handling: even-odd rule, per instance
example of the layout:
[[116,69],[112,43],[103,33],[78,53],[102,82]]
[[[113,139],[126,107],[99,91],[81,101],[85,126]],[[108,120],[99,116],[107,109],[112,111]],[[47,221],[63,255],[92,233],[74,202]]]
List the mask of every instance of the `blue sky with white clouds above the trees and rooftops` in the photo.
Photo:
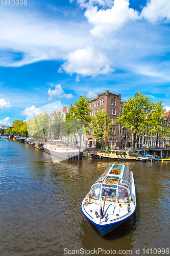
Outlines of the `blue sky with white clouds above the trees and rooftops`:
[[0,125],[106,90],[170,109],[169,0],[21,3],[0,6]]

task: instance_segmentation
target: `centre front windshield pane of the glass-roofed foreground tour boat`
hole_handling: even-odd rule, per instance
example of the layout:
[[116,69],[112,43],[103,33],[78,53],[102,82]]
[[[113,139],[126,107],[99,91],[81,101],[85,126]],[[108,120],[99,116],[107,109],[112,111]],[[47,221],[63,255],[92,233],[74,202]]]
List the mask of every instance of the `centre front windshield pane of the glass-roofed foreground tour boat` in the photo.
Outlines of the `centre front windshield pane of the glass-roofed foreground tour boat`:
[[102,186],[102,193],[101,193],[101,200],[104,201],[106,197],[107,202],[116,202],[116,190],[117,186],[111,185],[103,185]]

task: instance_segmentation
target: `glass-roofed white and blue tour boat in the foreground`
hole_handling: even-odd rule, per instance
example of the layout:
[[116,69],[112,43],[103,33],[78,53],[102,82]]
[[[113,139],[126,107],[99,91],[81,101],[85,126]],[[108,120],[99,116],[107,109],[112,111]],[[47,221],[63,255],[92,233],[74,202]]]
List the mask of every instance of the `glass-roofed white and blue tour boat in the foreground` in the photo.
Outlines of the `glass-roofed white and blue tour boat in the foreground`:
[[108,166],[81,204],[83,215],[102,236],[123,224],[136,209],[133,173],[124,164]]

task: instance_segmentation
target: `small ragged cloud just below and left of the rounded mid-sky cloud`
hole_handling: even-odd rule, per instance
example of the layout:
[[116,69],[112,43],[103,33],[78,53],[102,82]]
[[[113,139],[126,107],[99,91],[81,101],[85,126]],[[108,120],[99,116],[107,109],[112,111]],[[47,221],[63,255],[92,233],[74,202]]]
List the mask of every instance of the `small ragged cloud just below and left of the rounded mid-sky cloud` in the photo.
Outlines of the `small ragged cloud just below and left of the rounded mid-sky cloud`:
[[48,89],[48,95],[49,95],[49,99],[48,100],[52,100],[52,98],[57,97],[57,98],[72,98],[73,95],[71,93],[66,94],[64,93],[61,84],[53,84],[50,83],[51,86],[55,86],[55,89],[52,90],[51,88]]

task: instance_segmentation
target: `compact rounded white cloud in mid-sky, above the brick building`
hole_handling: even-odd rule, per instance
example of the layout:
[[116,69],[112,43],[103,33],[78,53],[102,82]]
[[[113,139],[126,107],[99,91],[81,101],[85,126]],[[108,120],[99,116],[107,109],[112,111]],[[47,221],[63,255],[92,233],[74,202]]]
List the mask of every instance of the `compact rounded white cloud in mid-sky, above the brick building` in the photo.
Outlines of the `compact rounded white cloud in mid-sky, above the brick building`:
[[111,62],[105,54],[94,51],[90,46],[70,52],[67,59],[68,61],[62,65],[62,69],[69,74],[96,76],[114,71],[110,68]]

